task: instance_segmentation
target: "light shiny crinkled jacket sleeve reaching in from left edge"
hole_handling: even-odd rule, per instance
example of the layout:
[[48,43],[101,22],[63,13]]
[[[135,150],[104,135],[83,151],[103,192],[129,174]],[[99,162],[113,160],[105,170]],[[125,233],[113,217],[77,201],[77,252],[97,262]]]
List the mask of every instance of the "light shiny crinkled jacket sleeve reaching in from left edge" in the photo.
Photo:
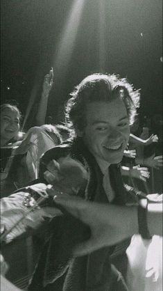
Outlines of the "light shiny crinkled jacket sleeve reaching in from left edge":
[[[19,191],[1,199],[1,236],[11,230],[4,237],[4,242],[8,243],[26,233],[28,228],[35,230],[46,221],[48,214],[42,208],[37,207],[34,211],[29,212],[30,208],[26,207],[26,203],[24,203],[28,195],[30,195],[28,191]],[[35,200],[31,198],[31,202],[35,203]],[[13,226],[15,227],[13,228]]]

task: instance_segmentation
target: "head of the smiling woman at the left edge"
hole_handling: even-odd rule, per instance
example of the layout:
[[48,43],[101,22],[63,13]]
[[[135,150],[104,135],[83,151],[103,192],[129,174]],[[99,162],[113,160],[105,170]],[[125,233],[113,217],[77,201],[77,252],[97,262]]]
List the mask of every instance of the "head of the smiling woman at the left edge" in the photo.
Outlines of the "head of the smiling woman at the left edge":
[[14,108],[6,108],[1,112],[1,140],[6,143],[19,132],[19,112]]

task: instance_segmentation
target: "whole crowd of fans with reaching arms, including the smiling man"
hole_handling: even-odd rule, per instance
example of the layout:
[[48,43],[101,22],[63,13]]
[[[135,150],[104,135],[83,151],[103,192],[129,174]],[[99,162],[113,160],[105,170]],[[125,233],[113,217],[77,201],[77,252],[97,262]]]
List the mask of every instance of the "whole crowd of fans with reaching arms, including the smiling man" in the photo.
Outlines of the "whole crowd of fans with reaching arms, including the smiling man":
[[[159,268],[152,266],[155,280],[145,267],[131,275],[141,262],[130,263],[130,249],[162,239],[162,182],[155,188],[153,179],[162,176],[160,130],[146,118],[140,125],[139,90],[115,74],[83,79],[65,104],[65,123],[44,124],[53,83],[51,69],[26,133],[18,107],[1,105],[3,275],[31,291],[159,290]],[[28,242],[30,279],[21,284],[10,258],[20,242]]]

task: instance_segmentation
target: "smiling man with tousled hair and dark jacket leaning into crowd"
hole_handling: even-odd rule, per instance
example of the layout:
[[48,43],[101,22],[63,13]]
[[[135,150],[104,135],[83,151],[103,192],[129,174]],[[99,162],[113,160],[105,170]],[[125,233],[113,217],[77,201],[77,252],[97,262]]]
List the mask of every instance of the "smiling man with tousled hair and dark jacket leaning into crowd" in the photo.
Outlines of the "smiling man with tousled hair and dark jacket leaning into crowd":
[[[127,79],[114,74],[92,74],[83,79],[71,93],[66,105],[65,116],[67,127],[71,129],[71,140],[44,154],[40,162],[40,178],[55,185],[58,182],[55,162],[54,168],[49,166],[50,162],[69,156],[83,164],[88,175],[87,186],[78,191],[78,196],[86,200],[124,205],[126,193],[119,163],[128,143],[130,125],[137,107],[139,91],[135,91]],[[78,228],[72,224],[67,231],[67,245],[70,245],[69,241],[77,231]],[[60,275],[56,276],[56,266],[53,265],[56,261],[56,256],[53,257],[55,232],[52,237],[42,253],[29,290],[127,290],[123,278],[110,264],[112,250],[109,247],[80,258],[70,256],[71,259],[69,257],[67,264],[62,266]],[[42,281],[40,274],[44,274]]]

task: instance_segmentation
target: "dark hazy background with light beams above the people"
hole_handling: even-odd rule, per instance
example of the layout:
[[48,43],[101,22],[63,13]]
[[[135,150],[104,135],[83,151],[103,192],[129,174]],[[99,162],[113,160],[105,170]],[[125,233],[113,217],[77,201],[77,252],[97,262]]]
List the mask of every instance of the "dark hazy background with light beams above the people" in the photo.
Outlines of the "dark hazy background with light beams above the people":
[[[17,100],[26,116],[33,98],[35,113],[44,74],[53,65],[48,115],[54,120],[73,87],[92,72],[128,77],[141,88],[140,115],[162,114],[162,1],[80,0],[81,17],[78,5],[65,37],[68,61],[63,54],[58,61],[74,2],[78,0],[1,0],[1,102]],[[67,39],[77,24],[69,49]]]

